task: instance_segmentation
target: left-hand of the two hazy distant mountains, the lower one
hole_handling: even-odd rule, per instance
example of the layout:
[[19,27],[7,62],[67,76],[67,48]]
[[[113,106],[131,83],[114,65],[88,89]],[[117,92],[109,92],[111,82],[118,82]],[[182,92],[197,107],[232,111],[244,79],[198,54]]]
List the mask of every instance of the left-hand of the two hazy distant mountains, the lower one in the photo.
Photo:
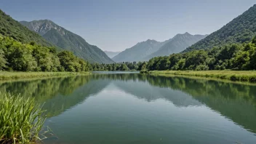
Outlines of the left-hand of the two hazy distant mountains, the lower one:
[[160,47],[166,44],[171,39],[159,42],[155,40],[148,39],[147,41],[139,42],[135,46],[125,49],[112,58],[115,62],[133,62],[133,61],[143,61],[145,57],[156,52]]

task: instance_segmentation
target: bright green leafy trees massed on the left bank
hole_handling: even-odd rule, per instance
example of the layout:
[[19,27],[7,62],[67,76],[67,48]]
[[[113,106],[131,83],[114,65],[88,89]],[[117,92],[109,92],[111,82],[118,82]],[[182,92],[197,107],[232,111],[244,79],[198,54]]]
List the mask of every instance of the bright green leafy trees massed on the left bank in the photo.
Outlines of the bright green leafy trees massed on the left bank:
[[89,71],[89,63],[72,52],[57,53],[55,47],[43,47],[31,42],[22,44],[0,36],[0,70],[6,71]]

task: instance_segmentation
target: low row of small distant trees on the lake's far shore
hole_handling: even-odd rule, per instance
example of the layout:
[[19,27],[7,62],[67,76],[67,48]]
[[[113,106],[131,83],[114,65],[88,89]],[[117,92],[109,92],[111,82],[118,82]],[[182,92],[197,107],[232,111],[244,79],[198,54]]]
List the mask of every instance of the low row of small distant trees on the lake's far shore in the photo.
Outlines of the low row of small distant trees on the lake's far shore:
[[123,62],[123,63],[112,63],[112,64],[92,64],[93,71],[140,71],[145,69],[146,63],[142,62]]

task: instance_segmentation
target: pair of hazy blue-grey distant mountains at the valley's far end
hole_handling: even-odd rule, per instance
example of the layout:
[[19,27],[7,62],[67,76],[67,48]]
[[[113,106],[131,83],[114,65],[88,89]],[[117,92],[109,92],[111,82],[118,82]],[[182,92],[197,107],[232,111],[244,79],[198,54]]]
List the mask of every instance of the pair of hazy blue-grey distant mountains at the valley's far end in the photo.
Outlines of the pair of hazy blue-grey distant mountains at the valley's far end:
[[170,55],[182,52],[185,48],[204,39],[207,35],[191,35],[190,33],[177,34],[172,39],[159,42],[148,39],[139,42],[135,46],[125,49],[112,59],[115,62],[145,61],[152,57]]

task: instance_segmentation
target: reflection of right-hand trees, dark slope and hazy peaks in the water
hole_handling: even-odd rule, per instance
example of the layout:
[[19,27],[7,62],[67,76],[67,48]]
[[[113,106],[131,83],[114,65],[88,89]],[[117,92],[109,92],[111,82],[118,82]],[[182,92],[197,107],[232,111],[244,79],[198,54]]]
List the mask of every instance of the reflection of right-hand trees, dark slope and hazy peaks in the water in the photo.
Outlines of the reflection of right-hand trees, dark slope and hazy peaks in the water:
[[[114,84],[123,89],[124,92],[129,92],[147,101],[164,98],[172,101],[177,106],[200,105],[197,102],[203,103],[242,127],[256,132],[255,86],[206,79],[140,74],[101,75],[98,77],[115,80],[113,81]],[[154,87],[148,87],[148,84]],[[156,87],[169,89],[157,89]],[[193,98],[190,99],[188,95],[175,93],[173,90],[185,92]]]

